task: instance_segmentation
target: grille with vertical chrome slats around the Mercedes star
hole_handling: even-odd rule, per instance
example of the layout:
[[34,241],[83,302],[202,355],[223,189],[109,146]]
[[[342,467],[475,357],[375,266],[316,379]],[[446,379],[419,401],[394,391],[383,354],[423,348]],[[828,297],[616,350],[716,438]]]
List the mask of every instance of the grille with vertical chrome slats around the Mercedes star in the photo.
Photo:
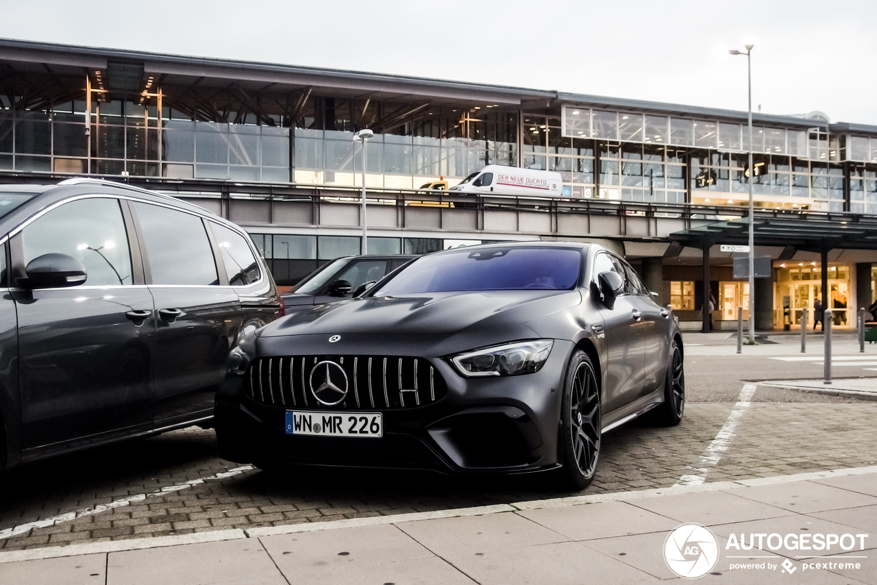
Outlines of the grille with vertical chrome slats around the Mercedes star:
[[[327,407],[310,391],[310,372],[333,361],[347,375],[347,396]],[[287,408],[403,409],[435,403],[447,393],[444,378],[423,358],[386,355],[306,355],[253,360],[244,392],[256,402]]]

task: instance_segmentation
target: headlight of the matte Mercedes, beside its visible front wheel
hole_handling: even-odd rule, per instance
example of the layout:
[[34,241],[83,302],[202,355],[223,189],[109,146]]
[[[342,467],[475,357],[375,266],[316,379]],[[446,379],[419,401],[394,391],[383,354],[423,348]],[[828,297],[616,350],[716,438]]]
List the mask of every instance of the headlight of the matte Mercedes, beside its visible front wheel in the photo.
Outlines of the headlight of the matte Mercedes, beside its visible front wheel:
[[548,359],[552,339],[517,341],[502,346],[484,347],[451,358],[454,367],[467,378],[491,375],[519,375],[538,372]]

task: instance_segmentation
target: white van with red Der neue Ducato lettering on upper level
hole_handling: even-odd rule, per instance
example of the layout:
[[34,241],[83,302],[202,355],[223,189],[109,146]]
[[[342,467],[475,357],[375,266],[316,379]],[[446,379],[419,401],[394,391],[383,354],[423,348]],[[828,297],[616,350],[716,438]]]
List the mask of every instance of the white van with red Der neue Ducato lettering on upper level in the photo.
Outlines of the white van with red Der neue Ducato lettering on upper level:
[[472,195],[560,197],[563,195],[563,179],[560,173],[553,171],[488,165],[450,190]]

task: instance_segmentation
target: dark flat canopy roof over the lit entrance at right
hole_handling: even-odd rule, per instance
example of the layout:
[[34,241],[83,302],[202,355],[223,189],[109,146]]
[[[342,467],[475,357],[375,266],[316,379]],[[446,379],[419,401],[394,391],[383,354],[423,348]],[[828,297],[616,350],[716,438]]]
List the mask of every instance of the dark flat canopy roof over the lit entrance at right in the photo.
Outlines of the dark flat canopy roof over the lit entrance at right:
[[[877,218],[852,213],[826,217],[759,218],[753,224],[758,246],[795,246],[799,250],[821,252],[832,248],[877,250]],[[670,239],[695,247],[713,244],[747,244],[749,218],[721,220],[712,224],[674,232]]]

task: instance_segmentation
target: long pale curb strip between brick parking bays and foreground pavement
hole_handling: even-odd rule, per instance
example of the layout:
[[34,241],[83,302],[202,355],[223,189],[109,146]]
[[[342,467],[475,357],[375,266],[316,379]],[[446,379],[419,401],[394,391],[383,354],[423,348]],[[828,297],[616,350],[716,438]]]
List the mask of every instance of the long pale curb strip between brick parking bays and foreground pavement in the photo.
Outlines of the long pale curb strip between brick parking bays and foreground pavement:
[[558,497],[547,500],[533,500],[531,502],[517,502],[511,504],[496,504],[491,506],[478,506],[475,508],[458,508],[456,510],[436,510],[432,512],[414,512],[411,514],[396,514],[391,516],[352,518],[350,520],[333,520],[329,522],[311,522],[308,524],[287,524],[282,526],[262,526],[260,528],[235,529],[195,532],[180,536],[161,536],[152,539],[129,539],[96,542],[85,545],[69,546],[46,546],[45,548],[32,548],[25,551],[11,551],[0,553],[0,563],[17,562],[19,560],[54,559],[58,557],[71,557],[82,554],[118,553],[120,551],[135,551],[145,548],[158,548],[161,546],[180,546],[202,542],[217,542],[219,540],[235,540],[276,534],[294,534],[296,532],[312,532],[335,530],[340,528],[352,528],[357,526],[374,526],[379,524],[401,524],[403,522],[417,522],[418,520],[434,520],[437,518],[483,516],[487,514],[500,514],[517,512],[520,510],[538,510],[540,508],[561,508],[565,506],[578,506],[588,503],[624,502],[625,500],[637,500],[647,497],[674,496],[678,494],[694,494],[700,492],[717,491],[720,489],[741,489],[757,486],[774,485],[778,483],[808,482],[811,480],[842,477],[844,475],[877,474],[877,466],[850,467],[833,471],[816,471],[805,474],[776,475],[774,477],[759,477],[752,480],[739,480],[736,482],[711,482],[692,486],[674,486],[672,488],[641,489],[638,491],[615,492],[612,494],[594,494],[593,496]]

